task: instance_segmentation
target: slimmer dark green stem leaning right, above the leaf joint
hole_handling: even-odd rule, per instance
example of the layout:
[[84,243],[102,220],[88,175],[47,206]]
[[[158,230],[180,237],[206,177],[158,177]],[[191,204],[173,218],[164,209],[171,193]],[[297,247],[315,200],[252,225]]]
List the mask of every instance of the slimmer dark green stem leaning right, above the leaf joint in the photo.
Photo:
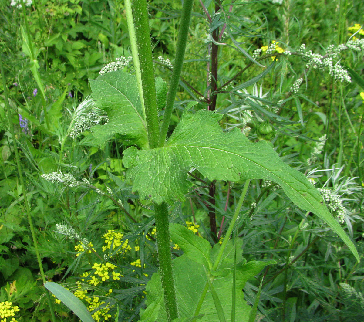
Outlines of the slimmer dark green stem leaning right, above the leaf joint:
[[171,76],[171,82],[169,84],[169,90],[167,94],[166,108],[163,115],[163,122],[161,126],[161,133],[159,134],[158,146],[162,147],[165,144],[167,138],[167,132],[169,122],[172,115],[174,100],[176,97],[179,77],[181,76],[183,59],[185,57],[187,36],[190,27],[191,12],[192,12],[193,0],[183,1],[181,22],[178,30],[178,41],[176,47],[176,56],[173,63],[173,71]]

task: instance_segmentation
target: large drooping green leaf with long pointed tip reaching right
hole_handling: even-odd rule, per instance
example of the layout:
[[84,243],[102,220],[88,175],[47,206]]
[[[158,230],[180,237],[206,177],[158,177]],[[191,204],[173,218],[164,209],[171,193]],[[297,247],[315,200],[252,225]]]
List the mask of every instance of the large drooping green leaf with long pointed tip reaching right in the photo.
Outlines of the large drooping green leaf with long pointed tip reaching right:
[[218,125],[222,116],[206,110],[186,112],[163,148],[126,149],[123,162],[129,168],[127,179],[134,181],[133,191],[158,204],[185,200],[191,167],[209,180],[272,180],[298,207],[315,213],[333,228],[359,260],[354,244],[308,179],[286,165],[267,142],[251,143],[239,129],[223,133]]

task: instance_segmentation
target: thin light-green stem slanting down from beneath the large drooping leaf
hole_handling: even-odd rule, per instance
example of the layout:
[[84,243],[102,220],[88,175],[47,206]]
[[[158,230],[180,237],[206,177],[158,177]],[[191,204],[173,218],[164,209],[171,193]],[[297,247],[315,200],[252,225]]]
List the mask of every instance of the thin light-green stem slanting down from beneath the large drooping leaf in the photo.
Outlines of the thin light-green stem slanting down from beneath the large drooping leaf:
[[[246,191],[248,191],[249,183],[250,183],[250,180],[245,181],[244,188],[243,188],[243,191],[241,192],[241,196],[240,196],[240,199],[239,199],[238,204],[236,206],[233,218],[232,218],[232,220],[230,222],[230,225],[229,225],[229,228],[227,229],[225,238],[224,238],[224,240],[223,240],[223,242],[221,244],[221,247],[219,249],[219,252],[218,252],[218,254],[216,256],[215,263],[214,263],[213,267],[211,268],[211,270],[213,270],[213,271],[215,271],[217,269],[217,267],[218,267],[218,265],[220,263],[222,254],[223,254],[223,252],[225,250],[226,244],[229,241],[229,237],[230,237],[231,233],[233,232],[234,225],[236,223],[236,220],[238,219],[238,215],[239,215],[241,206],[243,205],[243,201],[245,199]],[[213,280],[214,276],[212,276],[210,279]],[[205,287],[202,290],[201,297],[200,297],[200,299],[199,299],[199,301],[197,303],[195,313],[193,315],[198,315],[199,314],[199,311],[201,310],[202,303],[205,300],[208,289],[209,289],[209,283],[206,282]]]

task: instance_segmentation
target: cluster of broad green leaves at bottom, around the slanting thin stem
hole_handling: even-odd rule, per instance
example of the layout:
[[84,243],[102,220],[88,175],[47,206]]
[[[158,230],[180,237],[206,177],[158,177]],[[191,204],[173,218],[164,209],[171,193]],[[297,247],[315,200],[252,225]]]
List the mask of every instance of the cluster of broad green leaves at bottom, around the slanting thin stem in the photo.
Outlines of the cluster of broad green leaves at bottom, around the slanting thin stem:
[[[210,276],[206,276],[204,264],[201,264],[201,259],[205,257],[201,255],[196,255],[196,253],[194,252],[194,250],[198,248],[205,249],[206,240],[194,235],[193,232],[189,231],[189,229],[177,224],[173,224],[171,227],[171,239],[174,243],[182,241],[179,246],[185,252],[184,255],[173,260],[173,271],[175,275],[175,286],[179,314],[181,318],[191,318],[193,317],[195,309],[197,307],[198,299],[201,298],[207,279],[211,278]],[[215,245],[213,250],[209,251],[209,255],[211,256],[211,258],[213,257],[213,254],[218,251],[219,247],[221,246],[217,244]],[[227,249],[229,248],[233,248],[233,243],[229,243]],[[222,262],[226,263],[233,260],[233,252],[226,251],[223,255]],[[241,291],[246,281],[256,275],[258,272],[260,272],[262,268],[264,268],[266,265],[274,263],[274,261],[246,262],[246,260],[241,259],[241,262],[237,268],[236,278],[237,303],[239,303],[236,308],[237,321],[248,321],[249,312],[251,309],[246,304],[243,292]],[[233,283],[232,275],[233,273],[231,269],[227,274],[218,276],[211,275],[214,276],[212,278],[212,284],[216,294],[219,294],[219,300],[221,302],[226,317],[230,316],[231,310],[231,290]],[[187,280],[189,280],[189,283],[186,283]],[[158,304],[160,305],[160,309],[158,312],[158,321],[167,321],[165,306],[160,296],[161,282],[158,273],[155,273],[152,276],[150,282],[148,282],[147,284],[146,290],[147,306],[149,307],[151,305],[156,307],[157,303],[160,303]],[[199,321],[218,321],[218,315],[215,309],[214,299],[211,290],[207,291],[206,298],[203,302],[200,313],[203,314],[203,317]]]

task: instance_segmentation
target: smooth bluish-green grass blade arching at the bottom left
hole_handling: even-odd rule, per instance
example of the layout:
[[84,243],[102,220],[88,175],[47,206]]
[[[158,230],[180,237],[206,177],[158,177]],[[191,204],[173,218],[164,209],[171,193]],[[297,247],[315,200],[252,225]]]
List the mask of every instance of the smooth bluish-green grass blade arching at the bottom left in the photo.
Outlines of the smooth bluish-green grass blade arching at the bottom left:
[[62,285],[54,282],[44,283],[44,287],[50,290],[56,298],[64,303],[73,313],[75,313],[82,322],[95,322],[91,317],[86,306],[70,291],[66,290]]

